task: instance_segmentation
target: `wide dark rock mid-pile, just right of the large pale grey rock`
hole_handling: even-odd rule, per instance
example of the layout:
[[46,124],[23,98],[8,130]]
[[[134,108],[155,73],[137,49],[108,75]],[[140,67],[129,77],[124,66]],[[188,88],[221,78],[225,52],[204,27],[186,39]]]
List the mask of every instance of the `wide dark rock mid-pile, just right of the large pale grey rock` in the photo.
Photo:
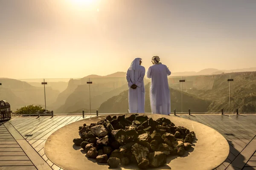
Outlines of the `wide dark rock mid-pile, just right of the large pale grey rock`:
[[136,130],[113,130],[112,134],[117,142],[119,142],[121,145],[127,144],[129,142],[134,142],[138,138],[138,133]]

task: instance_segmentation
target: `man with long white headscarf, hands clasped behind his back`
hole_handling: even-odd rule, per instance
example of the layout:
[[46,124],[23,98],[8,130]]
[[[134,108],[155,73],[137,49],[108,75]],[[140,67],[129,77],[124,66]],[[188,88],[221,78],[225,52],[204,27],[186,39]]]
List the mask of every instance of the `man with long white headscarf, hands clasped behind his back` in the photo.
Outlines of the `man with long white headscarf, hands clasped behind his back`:
[[145,68],[141,63],[141,58],[134,59],[126,74],[130,113],[145,113]]

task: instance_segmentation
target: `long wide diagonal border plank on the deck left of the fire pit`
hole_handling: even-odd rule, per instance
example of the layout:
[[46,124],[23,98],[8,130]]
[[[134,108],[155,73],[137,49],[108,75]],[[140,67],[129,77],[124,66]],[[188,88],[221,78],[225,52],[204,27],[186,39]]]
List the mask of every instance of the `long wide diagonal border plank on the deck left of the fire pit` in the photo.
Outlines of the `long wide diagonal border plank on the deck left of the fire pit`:
[[[38,170],[52,170],[51,167],[41,158],[41,156],[32,148],[32,146],[18,133],[18,131],[9,123],[5,124],[6,128],[11,132],[17,143],[24,150],[29,159],[33,162]],[[18,140],[19,139],[19,140]],[[13,144],[12,144],[13,145]],[[5,165],[2,165],[5,166]]]

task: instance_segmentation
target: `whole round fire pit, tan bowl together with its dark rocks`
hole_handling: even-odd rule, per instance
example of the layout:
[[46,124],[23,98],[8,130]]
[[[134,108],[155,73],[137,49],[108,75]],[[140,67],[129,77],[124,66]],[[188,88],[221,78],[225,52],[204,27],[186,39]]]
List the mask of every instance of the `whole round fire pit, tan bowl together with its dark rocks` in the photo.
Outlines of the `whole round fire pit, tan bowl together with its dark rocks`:
[[138,169],[138,166],[210,170],[227,158],[229,146],[217,131],[188,119],[119,114],[62,127],[49,136],[44,150],[53,163],[65,170]]

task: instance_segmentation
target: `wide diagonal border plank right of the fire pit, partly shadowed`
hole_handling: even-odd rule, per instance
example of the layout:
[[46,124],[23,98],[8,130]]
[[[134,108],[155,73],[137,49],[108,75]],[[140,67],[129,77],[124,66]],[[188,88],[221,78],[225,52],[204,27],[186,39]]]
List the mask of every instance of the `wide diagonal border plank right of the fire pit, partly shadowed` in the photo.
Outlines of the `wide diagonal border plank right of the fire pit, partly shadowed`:
[[253,139],[244,150],[234,159],[232,165],[242,169],[256,150],[256,138]]

